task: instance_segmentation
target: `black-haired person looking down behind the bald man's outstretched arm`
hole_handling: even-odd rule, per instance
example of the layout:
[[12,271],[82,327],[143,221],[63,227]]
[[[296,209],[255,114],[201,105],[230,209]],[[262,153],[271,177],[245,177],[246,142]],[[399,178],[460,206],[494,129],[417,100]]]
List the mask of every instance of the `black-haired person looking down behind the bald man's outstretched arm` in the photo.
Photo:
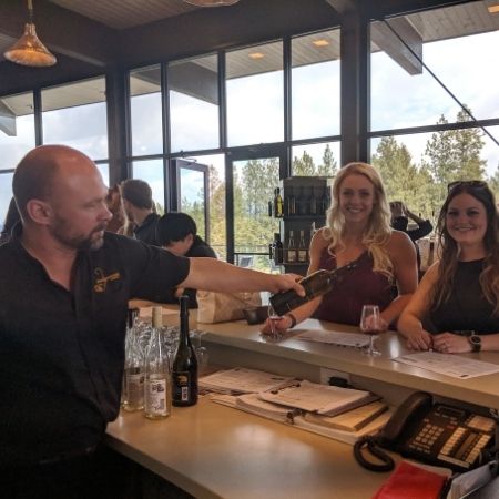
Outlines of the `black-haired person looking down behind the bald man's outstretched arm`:
[[[194,220],[186,213],[170,212],[157,220],[156,241],[177,256],[216,258],[213,248],[197,235]],[[196,291],[176,288],[170,303],[177,303],[177,297],[189,296],[190,308],[197,308]]]

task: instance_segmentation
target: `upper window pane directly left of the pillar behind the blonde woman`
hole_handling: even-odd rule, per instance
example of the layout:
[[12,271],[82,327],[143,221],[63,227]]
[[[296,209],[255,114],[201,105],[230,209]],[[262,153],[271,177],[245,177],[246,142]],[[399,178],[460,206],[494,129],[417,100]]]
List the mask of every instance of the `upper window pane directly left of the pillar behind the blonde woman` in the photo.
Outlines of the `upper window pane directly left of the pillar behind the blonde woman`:
[[292,40],[293,139],[339,134],[339,29]]

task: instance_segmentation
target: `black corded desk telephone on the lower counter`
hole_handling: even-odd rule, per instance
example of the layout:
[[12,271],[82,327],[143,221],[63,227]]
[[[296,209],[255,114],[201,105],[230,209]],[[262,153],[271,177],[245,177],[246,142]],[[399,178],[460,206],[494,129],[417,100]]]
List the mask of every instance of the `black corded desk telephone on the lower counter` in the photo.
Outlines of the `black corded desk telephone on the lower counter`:
[[[380,447],[457,471],[466,471],[480,464],[482,451],[493,444],[496,421],[468,410],[432,404],[425,391],[410,395],[394,413],[385,427],[354,446],[357,461],[371,471],[390,471],[394,460]],[[367,449],[383,464],[368,461]]]

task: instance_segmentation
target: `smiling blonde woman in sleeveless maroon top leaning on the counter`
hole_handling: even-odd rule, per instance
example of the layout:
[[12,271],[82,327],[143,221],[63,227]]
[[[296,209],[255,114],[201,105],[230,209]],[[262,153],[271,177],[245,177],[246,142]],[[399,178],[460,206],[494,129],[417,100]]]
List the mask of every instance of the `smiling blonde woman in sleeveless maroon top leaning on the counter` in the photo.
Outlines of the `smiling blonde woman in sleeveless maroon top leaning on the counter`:
[[[417,286],[416,251],[407,234],[390,228],[385,187],[376,169],[350,163],[336,175],[326,226],[310,242],[308,274],[352,262],[340,283],[323,297],[286,314],[281,330],[314,316],[358,326],[363,306],[378,305],[384,329],[395,324]],[[399,295],[394,299],[393,284]],[[263,332],[271,330],[269,323]]]

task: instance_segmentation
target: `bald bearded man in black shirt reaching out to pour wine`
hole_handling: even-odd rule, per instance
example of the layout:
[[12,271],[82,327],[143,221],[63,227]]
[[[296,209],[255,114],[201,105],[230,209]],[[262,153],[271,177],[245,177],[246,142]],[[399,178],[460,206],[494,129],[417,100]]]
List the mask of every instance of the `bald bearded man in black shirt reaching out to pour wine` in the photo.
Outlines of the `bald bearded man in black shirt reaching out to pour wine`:
[[128,301],[162,302],[172,287],[303,288],[293,275],[190,259],[105,232],[108,189],[73,149],[32,150],[12,189],[21,223],[0,246],[1,495],[100,497],[88,489],[88,462],[120,408]]

